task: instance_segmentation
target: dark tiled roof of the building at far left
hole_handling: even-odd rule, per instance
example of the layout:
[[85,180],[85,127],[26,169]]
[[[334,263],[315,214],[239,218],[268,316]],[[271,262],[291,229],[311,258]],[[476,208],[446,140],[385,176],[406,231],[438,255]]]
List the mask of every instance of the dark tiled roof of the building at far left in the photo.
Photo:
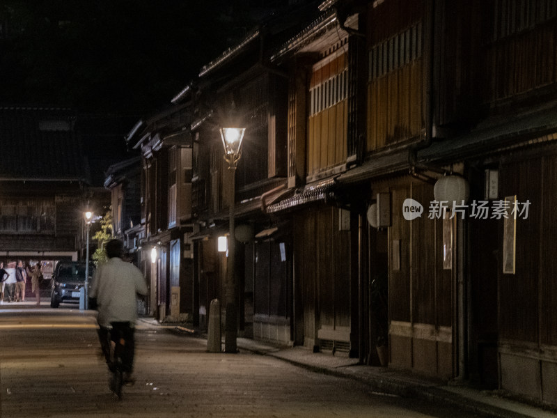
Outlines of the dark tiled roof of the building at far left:
[[0,180],[81,180],[86,160],[70,109],[0,107]]

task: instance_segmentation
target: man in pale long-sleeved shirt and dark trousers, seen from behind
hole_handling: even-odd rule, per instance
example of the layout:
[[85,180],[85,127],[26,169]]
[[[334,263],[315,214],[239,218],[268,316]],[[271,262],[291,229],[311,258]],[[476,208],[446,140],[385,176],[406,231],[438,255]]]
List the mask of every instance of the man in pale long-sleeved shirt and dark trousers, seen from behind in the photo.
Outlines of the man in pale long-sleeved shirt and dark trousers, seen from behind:
[[136,295],[147,295],[147,284],[139,268],[122,260],[124,254],[122,241],[110,240],[104,245],[104,249],[109,261],[100,265],[95,271],[90,296],[99,313],[98,334],[104,357],[110,364],[107,336],[111,328],[117,327],[121,330],[125,341],[122,355],[124,382],[132,384],[135,353],[134,325],[137,316]]

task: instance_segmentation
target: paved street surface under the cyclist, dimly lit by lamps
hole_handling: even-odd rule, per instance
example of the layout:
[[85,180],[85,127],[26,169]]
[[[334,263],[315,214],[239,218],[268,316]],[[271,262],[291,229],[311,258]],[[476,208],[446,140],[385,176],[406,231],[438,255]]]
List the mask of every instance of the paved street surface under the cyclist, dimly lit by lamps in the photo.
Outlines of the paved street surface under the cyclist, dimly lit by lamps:
[[273,357],[206,353],[203,339],[147,325],[136,334],[136,384],[117,401],[91,314],[1,308],[1,418],[475,416]]

